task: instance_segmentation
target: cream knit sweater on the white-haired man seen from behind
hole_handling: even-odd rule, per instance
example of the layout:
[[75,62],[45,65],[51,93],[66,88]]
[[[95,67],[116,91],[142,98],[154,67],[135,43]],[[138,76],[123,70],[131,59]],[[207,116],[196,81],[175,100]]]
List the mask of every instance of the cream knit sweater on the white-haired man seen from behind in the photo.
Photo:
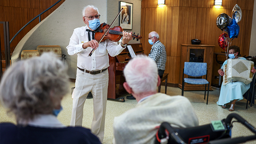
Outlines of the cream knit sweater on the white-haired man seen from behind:
[[153,144],[156,127],[162,122],[179,128],[198,126],[197,115],[186,97],[157,93],[114,118],[113,143]]

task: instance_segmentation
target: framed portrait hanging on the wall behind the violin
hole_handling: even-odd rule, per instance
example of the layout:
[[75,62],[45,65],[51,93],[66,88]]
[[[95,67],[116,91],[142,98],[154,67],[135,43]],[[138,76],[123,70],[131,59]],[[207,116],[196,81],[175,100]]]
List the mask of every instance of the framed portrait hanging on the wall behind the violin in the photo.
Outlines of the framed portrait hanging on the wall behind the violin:
[[122,8],[123,8],[123,11],[120,14],[119,25],[123,29],[132,30],[133,4],[120,1],[120,10]]

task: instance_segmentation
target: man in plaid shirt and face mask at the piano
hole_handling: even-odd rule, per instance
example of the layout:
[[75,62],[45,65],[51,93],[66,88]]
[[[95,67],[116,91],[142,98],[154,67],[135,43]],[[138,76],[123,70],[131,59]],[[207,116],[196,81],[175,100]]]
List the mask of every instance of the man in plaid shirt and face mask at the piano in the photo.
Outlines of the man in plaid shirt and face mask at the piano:
[[165,71],[166,63],[166,50],[164,44],[159,41],[159,35],[157,32],[153,31],[149,33],[149,44],[153,45],[151,47],[149,57],[156,62],[158,67],[158,74],[162,78]]

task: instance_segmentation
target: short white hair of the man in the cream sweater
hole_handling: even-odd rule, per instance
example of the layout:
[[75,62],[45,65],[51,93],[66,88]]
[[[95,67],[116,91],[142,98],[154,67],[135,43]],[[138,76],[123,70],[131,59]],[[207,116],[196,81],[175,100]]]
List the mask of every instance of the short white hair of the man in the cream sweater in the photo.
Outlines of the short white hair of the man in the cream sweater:
[[132,58],[124,68],[127,84],[134,93],[155,91],[158,83],[158,69],[153,59],[146,55]]

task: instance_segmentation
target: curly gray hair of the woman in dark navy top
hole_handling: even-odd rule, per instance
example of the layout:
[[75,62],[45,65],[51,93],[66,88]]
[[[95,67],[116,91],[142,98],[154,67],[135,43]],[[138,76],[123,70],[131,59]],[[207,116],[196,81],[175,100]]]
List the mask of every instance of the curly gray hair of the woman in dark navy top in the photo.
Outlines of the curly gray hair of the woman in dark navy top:
[[56,100],[68,92],[67,68],[53,53],[12,64],[0,83],[0,100],[15,114],[17,123],[36,114],[51,114]]

